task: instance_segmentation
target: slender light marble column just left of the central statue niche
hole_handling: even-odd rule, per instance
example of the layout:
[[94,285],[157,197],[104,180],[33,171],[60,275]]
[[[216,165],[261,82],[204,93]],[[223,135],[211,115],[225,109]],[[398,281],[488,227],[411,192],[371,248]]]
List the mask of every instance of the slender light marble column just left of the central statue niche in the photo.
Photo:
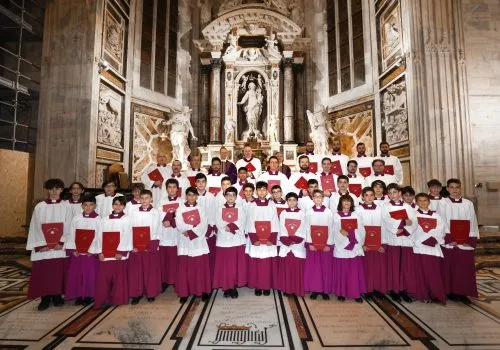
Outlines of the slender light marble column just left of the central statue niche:
[[220,101],[220,73],[222,61],[220,58],[212,59],[212,72],[210,73],[210,143],[220,144],[221,139],[221,101]]

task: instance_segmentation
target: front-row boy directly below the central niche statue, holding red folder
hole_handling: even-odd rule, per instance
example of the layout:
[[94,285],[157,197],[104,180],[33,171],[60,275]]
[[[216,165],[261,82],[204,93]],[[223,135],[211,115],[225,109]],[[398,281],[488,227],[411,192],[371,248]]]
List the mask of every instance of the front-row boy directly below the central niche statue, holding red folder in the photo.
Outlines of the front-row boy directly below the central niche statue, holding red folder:
[[258,181],[257,199],[248,207],[248,287],[255,295],[270,295],[276,280],[278,216],[272,201],[267,199],[267,183]]

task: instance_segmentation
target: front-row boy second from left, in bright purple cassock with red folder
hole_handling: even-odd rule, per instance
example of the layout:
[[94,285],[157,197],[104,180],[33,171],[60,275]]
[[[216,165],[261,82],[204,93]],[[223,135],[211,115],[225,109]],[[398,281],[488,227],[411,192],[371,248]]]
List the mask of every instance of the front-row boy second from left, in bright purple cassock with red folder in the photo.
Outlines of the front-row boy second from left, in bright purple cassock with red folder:
[[99,261],[89,253],[101,230],[101,217],[95,212],[95,198],[84,197],[83,212],[74,216],[64,249],[69,255],[69,268],[64,297],[75,299],[75,305],[90,305],[94,301]]

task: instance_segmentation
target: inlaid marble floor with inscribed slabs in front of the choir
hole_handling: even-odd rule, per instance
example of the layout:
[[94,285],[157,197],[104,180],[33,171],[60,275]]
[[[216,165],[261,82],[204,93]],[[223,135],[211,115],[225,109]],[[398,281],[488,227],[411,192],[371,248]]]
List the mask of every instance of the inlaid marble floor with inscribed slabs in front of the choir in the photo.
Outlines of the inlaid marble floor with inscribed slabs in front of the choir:
[[180,304],[172,290],[154,303],[94,310],[66,303],[38,312],[26,300],[29,267],[0,262],[0,349],[500,349],[500,269],[478,272],[471,305],[357,304],[274,291],[220,290]]

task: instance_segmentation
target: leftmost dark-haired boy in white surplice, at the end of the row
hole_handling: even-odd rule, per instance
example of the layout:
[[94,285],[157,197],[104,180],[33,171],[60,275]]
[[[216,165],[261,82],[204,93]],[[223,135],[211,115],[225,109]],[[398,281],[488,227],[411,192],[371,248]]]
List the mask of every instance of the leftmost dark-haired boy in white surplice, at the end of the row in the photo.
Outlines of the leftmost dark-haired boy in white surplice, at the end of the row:
[[31,277],[28,299],[41,297],[38,310],[46,310],[50,303],[62,306],[66,251],[64,242],[69,232],[72,211],[61,200],[64,182],[48,179],[43,185],[47,199],[35,206],[31,216],[26,250],[31,250]]

